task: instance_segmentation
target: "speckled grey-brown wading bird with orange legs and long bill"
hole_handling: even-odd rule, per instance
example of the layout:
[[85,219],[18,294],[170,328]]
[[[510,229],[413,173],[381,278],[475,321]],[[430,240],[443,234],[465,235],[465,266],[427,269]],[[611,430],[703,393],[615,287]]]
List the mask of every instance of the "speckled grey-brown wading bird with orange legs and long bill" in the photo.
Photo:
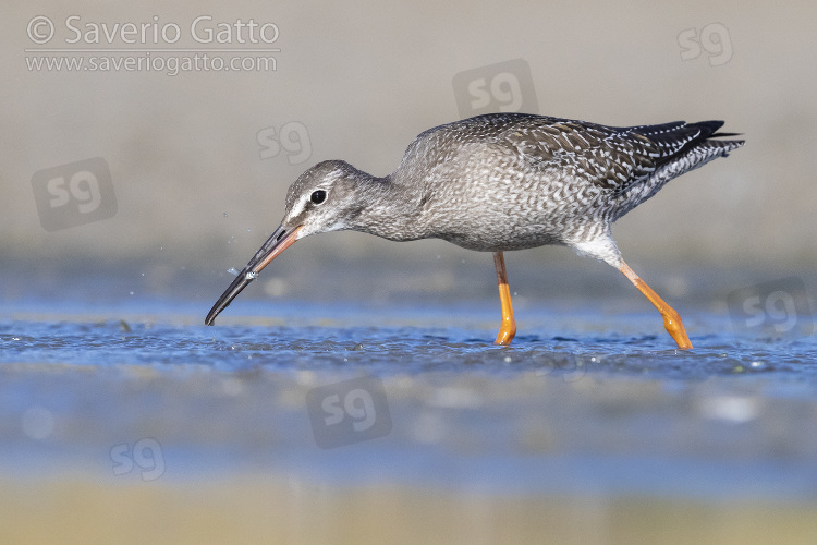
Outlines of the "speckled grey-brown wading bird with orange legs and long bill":
[[722,121],[605,126],[492,113],[429,129],[385,178],[344,161],[312,167],[290,186],[281,225],[210,310],[216,316],[281,252],[310,234],[352,229],[392,241],[443,239],[493,252],[502,322],[516,334],[503,252],[562,244],[618,268],[655,305],[679,349],[679,314],[624,263],[611,225],[663,185],[743,145]]

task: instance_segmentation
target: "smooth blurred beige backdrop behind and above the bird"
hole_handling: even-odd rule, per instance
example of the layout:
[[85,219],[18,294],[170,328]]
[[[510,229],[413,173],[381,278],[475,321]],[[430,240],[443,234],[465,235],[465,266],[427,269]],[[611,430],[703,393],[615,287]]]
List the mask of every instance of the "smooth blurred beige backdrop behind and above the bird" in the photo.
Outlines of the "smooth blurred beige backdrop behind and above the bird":
[[[277,227],[285,190],[303,170],[342,158],[374,174],[390,172],[414,136],[459,119],[455,74],[511,59],[528,63],[538,113],[614,125],[723,119],[724,130],[745,134],[744,148],[673,181],[617,225],[629,261],[807,267],[817,258],[815,12],[804,1],[785,8],[244,0],[7,7],[0,20],[0,267],[59,271],[71,264],[139,263],[148,271],[161,264],[168,278],[222,275],[243,266]],[[158,24],[182,29],[168,47],[197,49],[219,46],[190,39],[199,15],[212,16],[210,26],[273,22],[280,37],[271,47],[281,51],[276,70],[261,72],[29,71],[26,57],[42,53],[25,49],[45,47],[26,34],[35,16],[54,22],[48,46],[139,48],[121,40],[66,45],[70,15],[81,17],[80,27],[150,23],[156,15]],[[690,36],[714,23],[725,29],[709,36],[720,44],[683,60],[682,53],[694,56]],[[718,47],[730,48],[731,57]],[[279,132],[291,122],[306,131],[308,159],[285,150],[261,158],[259,131]],[[115,215],[47,232],[32,177],[92,157],[110,167]],[[456,263],[480,259],[439,241],[398,245],[358,233],[320,235],[295,247],[288,253],[297,252],[301,263],[352,256],[434,265],[439,254]],[[576,259],[542,249],[512,258]],[[490,261],[483,262],[489,278]]]

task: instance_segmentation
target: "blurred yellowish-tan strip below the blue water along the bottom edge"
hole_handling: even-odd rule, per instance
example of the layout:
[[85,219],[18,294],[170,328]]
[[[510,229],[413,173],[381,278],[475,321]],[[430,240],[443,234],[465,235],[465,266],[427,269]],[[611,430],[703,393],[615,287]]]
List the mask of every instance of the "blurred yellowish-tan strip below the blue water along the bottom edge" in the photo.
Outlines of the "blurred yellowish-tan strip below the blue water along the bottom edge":
[[3,543],[812,543],[817,505],[326,487],[241,475],[0,481]]

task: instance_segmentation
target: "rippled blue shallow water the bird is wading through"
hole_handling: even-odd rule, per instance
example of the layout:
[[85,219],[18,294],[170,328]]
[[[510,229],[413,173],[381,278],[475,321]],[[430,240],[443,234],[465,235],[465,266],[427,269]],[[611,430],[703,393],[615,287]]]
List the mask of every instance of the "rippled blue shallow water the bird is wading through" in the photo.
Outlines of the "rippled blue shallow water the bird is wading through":
[[[698,311],[680,352],[655,313],[609,306],[519,312],[502,348],[487,301],[247,301],[216,327],[202,303],[5,303],[0,472],[817,500],[814,335]],[[343,426],[375,424],[330,432],[320,400],[349,379],[374,404],[338,404]]]

